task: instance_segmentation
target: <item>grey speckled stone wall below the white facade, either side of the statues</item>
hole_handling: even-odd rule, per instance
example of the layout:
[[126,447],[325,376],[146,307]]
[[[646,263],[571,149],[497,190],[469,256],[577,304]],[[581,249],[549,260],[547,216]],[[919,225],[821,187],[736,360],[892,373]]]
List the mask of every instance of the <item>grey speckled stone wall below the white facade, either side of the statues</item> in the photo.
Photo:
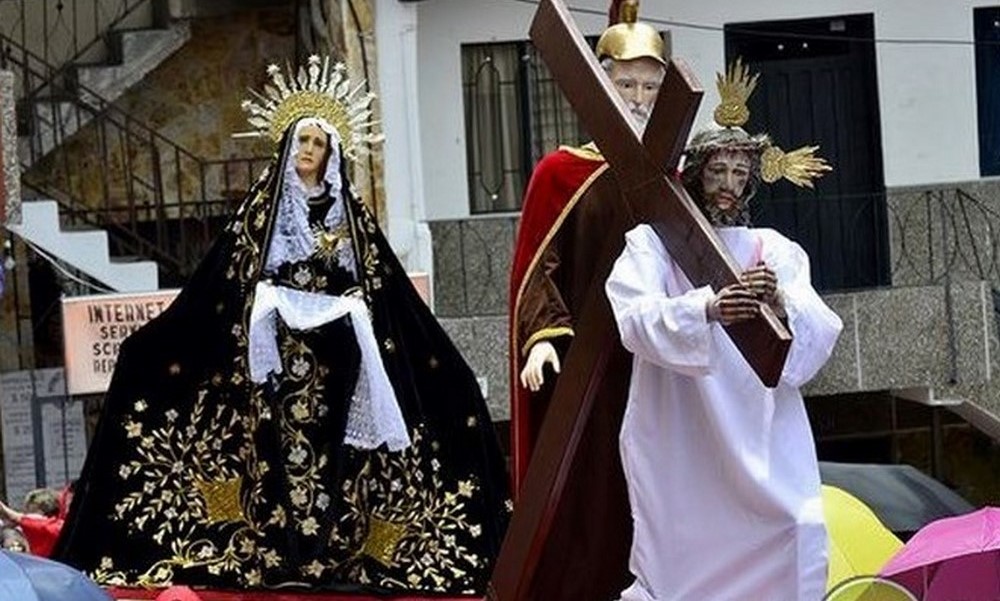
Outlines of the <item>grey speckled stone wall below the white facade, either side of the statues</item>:
[[[1000,393],[991,386],[1000,373],[995,284],[980,277],[993,273],[990,219],[1000,183],[982,182],[966,194],[978,200],[956,196],[954,186],[889,193],[894,286],[825,296],[844,331],[806,395],[933,389],[938,398],[971,400],[1000,416]],[[517,216],[430,228],[437,314],[487,379],[494,417],[508,419],[506,313]]]

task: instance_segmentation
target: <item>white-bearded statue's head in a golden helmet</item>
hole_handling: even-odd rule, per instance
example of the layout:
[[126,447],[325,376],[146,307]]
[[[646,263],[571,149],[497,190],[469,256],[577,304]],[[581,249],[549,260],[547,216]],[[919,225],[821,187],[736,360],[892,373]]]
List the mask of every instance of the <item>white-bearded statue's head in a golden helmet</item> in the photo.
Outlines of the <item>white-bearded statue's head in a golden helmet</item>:
[[656,29],[636,20],[638,11],[637,0],[626,0],[595,52],[640,128],[645,128],[666,74],[668,50]]

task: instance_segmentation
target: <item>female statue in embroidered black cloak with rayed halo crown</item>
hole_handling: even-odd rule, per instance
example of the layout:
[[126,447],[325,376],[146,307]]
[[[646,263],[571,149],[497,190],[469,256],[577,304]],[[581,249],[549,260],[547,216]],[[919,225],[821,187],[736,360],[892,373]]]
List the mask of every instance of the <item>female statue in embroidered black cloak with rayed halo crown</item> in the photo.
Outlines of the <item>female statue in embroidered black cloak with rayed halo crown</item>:
[[107,585],[481,593],[507,524],[478,384],[352,194],[370,96],[248,102],[269,168],[129,337],[56,557]]

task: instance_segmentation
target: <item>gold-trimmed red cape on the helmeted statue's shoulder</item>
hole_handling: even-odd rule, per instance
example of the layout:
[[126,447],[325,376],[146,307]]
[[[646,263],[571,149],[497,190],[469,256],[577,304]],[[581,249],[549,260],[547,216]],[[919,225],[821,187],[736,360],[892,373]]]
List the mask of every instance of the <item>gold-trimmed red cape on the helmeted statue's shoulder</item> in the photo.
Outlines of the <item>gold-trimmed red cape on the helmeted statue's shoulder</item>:
[[527,276],[528,267],[541,250],[542,242],[559,222],[559,216],[569,201],[580,192],[587,179],[604,162],[584,158],[567,150],[557,150],[545,155],[531,175],[528,189],[524,194],[521,221],[518,225],[517,242],[510,275],[510,382],[511,382],[511,487],[517,499],[534,441],[531,440],[532,426],[541,416],[531,414],[530,392],[523,388],[519,374],[522,363],[521,349],[517,348],[517,303],[521,282]]

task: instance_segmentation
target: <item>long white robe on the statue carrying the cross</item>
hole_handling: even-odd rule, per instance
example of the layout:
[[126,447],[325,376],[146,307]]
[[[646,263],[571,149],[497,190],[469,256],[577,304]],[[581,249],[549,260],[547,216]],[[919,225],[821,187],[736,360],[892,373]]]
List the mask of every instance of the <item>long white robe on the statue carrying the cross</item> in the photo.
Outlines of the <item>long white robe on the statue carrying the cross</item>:
[[635,357],[620,450],[635,535],[623,601],[818,601],[826,529],[798,388],[842,324],[813,290],[809,257],[770,229],[719,228],[744,268],[776,272],[794,340],[777,388],[722,327],[648,225],[626,236],[607,281]]

